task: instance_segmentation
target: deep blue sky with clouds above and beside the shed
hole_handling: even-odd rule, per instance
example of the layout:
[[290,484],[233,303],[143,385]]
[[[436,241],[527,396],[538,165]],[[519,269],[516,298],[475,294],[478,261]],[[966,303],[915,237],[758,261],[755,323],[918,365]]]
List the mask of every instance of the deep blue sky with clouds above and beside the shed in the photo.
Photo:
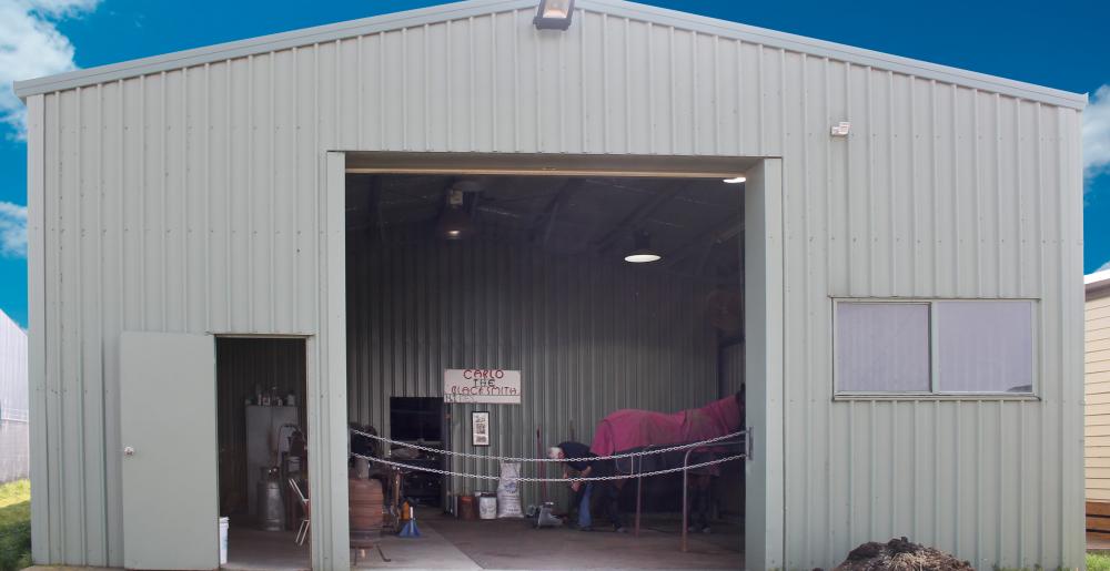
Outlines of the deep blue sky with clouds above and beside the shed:
[[[26,145],[13,79],[441,2],[0,0],[0,309],[27,326]],[[827,0],[646,3],[1091,93],[1086,273],[1110,264],[1110,2]],[[1110,267],[1110,266],[1108,266]]]

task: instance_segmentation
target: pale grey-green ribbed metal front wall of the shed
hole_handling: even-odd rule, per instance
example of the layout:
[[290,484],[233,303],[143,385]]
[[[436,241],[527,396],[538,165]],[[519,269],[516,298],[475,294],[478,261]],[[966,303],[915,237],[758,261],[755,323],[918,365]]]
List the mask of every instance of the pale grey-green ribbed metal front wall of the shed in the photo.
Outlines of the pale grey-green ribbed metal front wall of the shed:
[[[781,156],[787,564],[899,534],[982,567],[1081,564],[1078,112],[601,12],[559,34],[531,19],[29,99],[38,561],[122,562],[121,330],[322,330],[322,152],[349,149]],[[1042,399],[833,402],[829,295],[1039,298]],[[548,310],[518,304],[518,323]],[[485,318],[447,327],[463,317]],[[551,347],[522,367],[625,363]],[[535,418],[561,414],[547,398]]]

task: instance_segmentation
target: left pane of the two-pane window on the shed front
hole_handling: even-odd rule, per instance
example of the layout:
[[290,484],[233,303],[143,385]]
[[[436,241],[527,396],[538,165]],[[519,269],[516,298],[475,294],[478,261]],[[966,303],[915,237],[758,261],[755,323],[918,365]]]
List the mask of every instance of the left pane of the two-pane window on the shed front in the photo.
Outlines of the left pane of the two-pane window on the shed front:
[[839,303],[837,389],[929,391],[929,306]]

